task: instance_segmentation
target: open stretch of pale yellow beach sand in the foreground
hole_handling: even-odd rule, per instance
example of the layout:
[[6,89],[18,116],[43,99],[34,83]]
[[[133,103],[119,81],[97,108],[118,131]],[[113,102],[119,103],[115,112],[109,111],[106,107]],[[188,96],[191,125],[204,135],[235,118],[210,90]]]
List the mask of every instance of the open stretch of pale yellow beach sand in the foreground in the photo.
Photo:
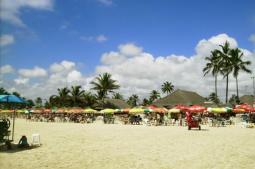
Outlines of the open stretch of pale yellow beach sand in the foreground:
[[1,169],[255,168],[255,129],[16,121],[16,142],[32,133],[43,145],[0,152]]

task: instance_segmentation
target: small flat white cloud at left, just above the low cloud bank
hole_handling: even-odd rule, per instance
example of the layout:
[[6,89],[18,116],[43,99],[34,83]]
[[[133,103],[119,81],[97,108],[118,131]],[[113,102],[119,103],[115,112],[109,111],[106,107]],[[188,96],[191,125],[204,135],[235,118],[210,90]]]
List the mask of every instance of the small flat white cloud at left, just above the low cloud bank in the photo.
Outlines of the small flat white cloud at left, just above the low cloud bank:
[[47,71],[37,66],[35,66],[33,69],[20,69],[18,72],[21,76],[27,78],[47,76]]

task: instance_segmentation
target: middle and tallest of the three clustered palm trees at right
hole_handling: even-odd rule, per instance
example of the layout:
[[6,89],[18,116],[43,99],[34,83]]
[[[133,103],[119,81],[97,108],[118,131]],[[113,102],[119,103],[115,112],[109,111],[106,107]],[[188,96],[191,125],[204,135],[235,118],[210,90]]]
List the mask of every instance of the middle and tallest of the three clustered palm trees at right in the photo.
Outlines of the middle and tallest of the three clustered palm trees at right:
[[230,59],[230,45],[228,41],[224,45],[220,45],[221,51],[217,50],[220,53],[221,60],[219,62],[221,73],[224,78],[226,78],[226,104],[228,103],[228,78],[229,74],[233,71],[233,65]]

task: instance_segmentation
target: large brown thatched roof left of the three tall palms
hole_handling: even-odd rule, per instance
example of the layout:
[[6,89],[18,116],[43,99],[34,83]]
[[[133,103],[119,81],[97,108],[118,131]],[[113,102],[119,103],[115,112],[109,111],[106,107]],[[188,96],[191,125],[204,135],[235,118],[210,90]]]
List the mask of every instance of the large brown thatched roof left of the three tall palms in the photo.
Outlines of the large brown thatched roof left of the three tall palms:
[[156,100],[153,104],[159,107],[174,107],[175,105],[202,105],[205,98],[192,91],[177,89],[166,97]]

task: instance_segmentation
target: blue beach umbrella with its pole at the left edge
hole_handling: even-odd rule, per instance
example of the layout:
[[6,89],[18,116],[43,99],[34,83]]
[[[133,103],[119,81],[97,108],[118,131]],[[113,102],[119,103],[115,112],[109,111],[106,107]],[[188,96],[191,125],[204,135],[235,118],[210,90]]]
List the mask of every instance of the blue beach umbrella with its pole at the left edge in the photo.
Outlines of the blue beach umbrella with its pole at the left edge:
[[[16,95],[0,95],[0,102],[2,103],[26,103],[26,101],[22,98],[19,98]],[[12,140],[14,139],[14,124],[15,124],[15,112],[13,115],[13,123],[12,123]]]

